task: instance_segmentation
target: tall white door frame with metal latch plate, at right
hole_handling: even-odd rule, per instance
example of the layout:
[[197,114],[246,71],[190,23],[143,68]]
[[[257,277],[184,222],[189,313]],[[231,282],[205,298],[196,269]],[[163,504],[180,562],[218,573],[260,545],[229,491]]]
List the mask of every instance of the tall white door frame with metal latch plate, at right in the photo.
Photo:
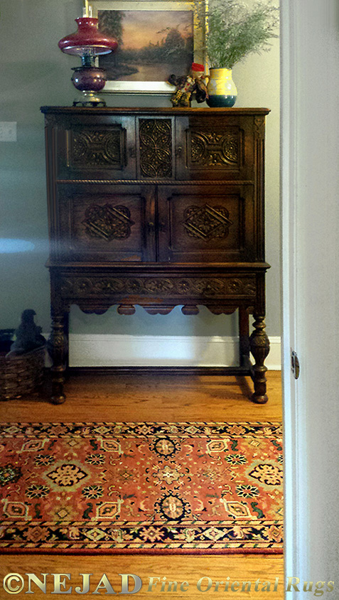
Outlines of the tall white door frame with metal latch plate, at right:
[[338,1],[281,0],[285,574],[324,598],[339,587],[338,58]]

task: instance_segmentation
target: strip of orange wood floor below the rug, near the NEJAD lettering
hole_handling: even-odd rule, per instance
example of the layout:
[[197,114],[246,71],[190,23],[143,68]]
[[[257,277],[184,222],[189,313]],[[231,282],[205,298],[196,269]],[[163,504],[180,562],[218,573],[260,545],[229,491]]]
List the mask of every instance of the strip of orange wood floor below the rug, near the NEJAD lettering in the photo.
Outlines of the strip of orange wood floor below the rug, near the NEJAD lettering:
[[[154,598],[154,600],[168,598],[185,598],[186,600],[195,600],[198,598],[234,598],[234,593],[230,589],[233,582],[240,582],[240,589],[235,596],[237,599],[254,598],[264,600],[271,598],[281,600],[284,588],[284,574],[282,568],[281,557],[260,555],[253,557],[250,555],[229,555],[229,556],[203,556],[203,557],[178,557],[178,556],[97,556],[97,557],[75,557],[75,556],[37,556],[29,557],[24,555],[14,555],[12,557],[1,557],[0,574],[1,579],[4,574],[17,572],[19,574],[26,573],[48,573],[46,577],[47,594],[39,591],[37,586],[32,585],[34,596],[37,600],[43,600],[48,596],[50,591],[53,591],[52,573],[70,574],[70,580],[65,589],[72,586],[72,593],[68,597],[80,597],[75,593],[75,587],[82,587],[82,577],[80,573],[92,573],[90,578],[90,593],[83,594],[82,597],[89,598],[92,592],[95,591],[102,574],[106,574],[109,582],[112,584],[114,591],[121,591],[121,577],[119,574],[134,574],[138,575],[142,581],[141,590],[133,597],[137,598]],[[148,591],[150,578],[159,577],[160,586],[163,582],[163,577],[166,577],[166,582],[178,582],[177,591],[161,592],[161,587],[156,584],[152,587],[152,591]],[[208,577],[212,580],[212,587],[208,591],[199,591],[197,584],[204,577],[201,583],[201,589],[205,589],[208,584]],[[230,579],[227,579],[227,578]],[[273,592],[274,582],[276,577],[279,577],[278,590]],[[24,577],[27,589],[27,577]],[[41,578],[42,579],[42,578]],[[255,591],[255,582],[260,579],[258,591]],[[154,579],[156,581],[156,579]],[[225,592],[225,584],[218,587],[215,591],[215,583],[217,581],[229,582],[228,594]],[[242,582],[251,582],[251,590],[242,592]],[[187,591],[180,590],[181,582],[188,582]],[[264,582],[271,582],[271,594],[267,591],[262,591]],[[133,589],[133,588],[132,588]],[[102,590],[104,591],[104,590]],[[0,596],[2,599],[2,596]],[[21,594],[17,598],[24,597]],[[26,596],[27,597],[27,596]],[[55,594],[54,597],[62,597]],[[65,596],[63,596],[65,597]],[[92,596],[93,597],[93,596]],[[105,594],[105,597],[106,594]]]

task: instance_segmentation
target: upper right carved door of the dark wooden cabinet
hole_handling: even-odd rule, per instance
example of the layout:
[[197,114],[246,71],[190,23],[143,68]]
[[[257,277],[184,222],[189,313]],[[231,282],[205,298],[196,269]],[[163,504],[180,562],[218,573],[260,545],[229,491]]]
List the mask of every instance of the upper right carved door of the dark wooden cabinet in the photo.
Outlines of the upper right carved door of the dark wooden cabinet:
[[254,177],[253,117],[176,117],[179,179],[251,180]]

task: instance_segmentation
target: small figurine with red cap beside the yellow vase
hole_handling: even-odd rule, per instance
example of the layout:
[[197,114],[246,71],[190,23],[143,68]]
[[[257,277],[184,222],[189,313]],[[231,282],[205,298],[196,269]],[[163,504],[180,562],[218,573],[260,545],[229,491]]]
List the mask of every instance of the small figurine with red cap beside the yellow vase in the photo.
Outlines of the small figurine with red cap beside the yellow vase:
[[193,63],[188,75],[170,75],[168,83],[176,85],[176,91],[171,96],[173,107],[185,106],[190,107],[193,93],[195,92],[195,100],[197,102],[205,102],[208,98],[208,91],[205,84],[205,69],[203,65]]

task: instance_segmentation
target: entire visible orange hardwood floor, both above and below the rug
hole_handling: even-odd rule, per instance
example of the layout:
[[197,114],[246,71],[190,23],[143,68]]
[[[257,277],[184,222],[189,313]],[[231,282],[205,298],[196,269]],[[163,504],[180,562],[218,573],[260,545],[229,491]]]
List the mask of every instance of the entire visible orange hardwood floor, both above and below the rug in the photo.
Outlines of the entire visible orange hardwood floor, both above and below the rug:
[[[72,422],[72,421],[280,421],[281,377],[278,372],[269,372],[267,405],[254,405],[249,401],[252,382],[244,377],[178,376],[178,375],[73,375],[65,390],[67,400],[64,405],[53,406],[43,398],[34,395],[2,402],[1,422]],[[225,585],[215,593],[216,581],[252,582],[251,591],[239,591],[236,598],[263,600],[273,596],[284,598],[284,567],[281,555],[206,555],[206,556],[143,556],[111,555],[80,557],[68,555],[0,555],[0,581],[8,573],[66,573],[70,574],[72,593],[68,597],[78,597],[76,586],[82,586],[81,573],[92,573],[91,588],[82,597],[92,597],[102,574],[107,574],[114,590],[121,590],[121,573],[136,574],[141,577],[143,586],[136,598],[151,596],[154,600],[199,598],[197,582],[201,577],[210,577],[212,587],[206,596],[225,597]],[[178,582],[178,591],[158,591],[158,586],[147,591],[149,577],[163,577],[167,581]],[[230,579],[227,579],[229,577]],[[279,577],[278,591],[274,582]],[[255,582],[258,591],[255,591]],[[42,579],[42,577],[41,577]],[[47,594],[32,584],[37,600],[45,599],[53,590],[53,577],[47,577]],[[181,582],[188,582],[187,591],[180,591]],[[205,579],[204,583],[208,582]],[[271,582],[269,593],[262,590],[264,582]],[[187,586],[184,586],[187,587]],[[27,589],[27,588],[26,588]],[[202,587],[202,589],[204,589]],[[61,588],[63,591],[63,588]],[[79,590],[80,591],[80,590]],[[102,589],[104,592],[105,590]],[[64,591],[65,593],[65,591]],[[100,592],[101,593],[101,592]],[[2,594],[2,595],[1,595]],[[55,594],[61,597],[61,594]],[[53,596],[53,597],[55,597]],[[0,583],[0,599],[6,600]],[[13,596],[12,596],[13,597]],[[22,591],[16,598],[26,598]],[[64,597],[64,596],[62,596]],[[203,596],[205,597],[205,596]],[[227,597],[233,598],[230,590]]]

